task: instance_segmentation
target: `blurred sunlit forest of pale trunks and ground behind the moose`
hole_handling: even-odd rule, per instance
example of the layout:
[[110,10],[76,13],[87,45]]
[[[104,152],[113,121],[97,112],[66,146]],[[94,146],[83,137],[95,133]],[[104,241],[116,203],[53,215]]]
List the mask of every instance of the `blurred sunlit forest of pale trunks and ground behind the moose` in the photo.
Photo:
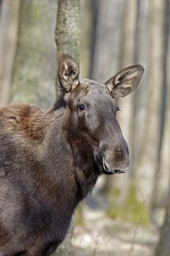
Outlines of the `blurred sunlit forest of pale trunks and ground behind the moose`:
[[[53,104],[57,7],[57,0],[0,0],[0,107]],[[70,255],[168,256],[170,0],[80,0],[77,11],[80,79],[105,82],[133,64],[145,71],[137,89],[117,99],[130,169],[102,177],[78,207]],[[67,53],[77,60],[75,52]]]

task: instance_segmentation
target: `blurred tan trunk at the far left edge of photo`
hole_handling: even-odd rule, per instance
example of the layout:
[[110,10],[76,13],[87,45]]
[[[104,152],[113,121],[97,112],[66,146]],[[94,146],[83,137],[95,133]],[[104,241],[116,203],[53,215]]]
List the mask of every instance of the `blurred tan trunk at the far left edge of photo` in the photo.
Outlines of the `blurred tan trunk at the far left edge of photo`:
[[17,47],[19,9],[20,0],[3,0],[0,9],[0,108],[10,101],[12,70]]

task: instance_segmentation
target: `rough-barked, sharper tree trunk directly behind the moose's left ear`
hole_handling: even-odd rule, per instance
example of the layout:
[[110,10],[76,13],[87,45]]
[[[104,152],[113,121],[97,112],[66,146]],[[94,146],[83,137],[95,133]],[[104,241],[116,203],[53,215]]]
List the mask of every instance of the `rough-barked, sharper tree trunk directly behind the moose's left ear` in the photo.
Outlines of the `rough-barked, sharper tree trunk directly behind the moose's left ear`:
[[[59,0],[57,24],[55,29],[57,44],[57,65],[59,55],[63,52],[73,57],[80,64],[80,0]],[[59,96],[58,68],[56,79],[56,92]],[[68,234],[53,256],[71,255],[71,237],[74,232],[74,217]]]

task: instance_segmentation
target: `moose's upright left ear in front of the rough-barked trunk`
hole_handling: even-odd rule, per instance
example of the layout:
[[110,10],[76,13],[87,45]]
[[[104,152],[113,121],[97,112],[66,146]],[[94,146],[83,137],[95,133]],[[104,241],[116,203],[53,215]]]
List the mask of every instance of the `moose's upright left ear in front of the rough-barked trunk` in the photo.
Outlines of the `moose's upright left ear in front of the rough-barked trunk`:
[[77,62],[66,53],[62,53],[59,56],[58,76],[60,84],[66,92],[71,91],[79,84],[79,68]]

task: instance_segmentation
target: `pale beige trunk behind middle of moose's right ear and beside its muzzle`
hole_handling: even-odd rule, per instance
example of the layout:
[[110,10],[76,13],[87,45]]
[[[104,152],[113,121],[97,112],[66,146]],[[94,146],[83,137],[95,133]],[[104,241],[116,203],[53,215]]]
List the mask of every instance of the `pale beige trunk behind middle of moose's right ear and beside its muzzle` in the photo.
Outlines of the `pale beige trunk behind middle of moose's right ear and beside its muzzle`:
[[[124,30],[122,38],[122,63],[121,68],[130,66],[134,64],[134,53],[135,53],[135,36],[136,36],[136,19],[137,19],[137,0],[126,0],[125,1],[125,14],[124,14]],[[122,134],[127,141],[129,151],[130,151],[130,169],[122,177],[116,176],[114,179],[114,187],[119,191],[119,195],[116,196],[116,203],[122,206],[127,198],[129,186],[130,186],[130,176],[133,166],[133,140],[134,136],[134,122],[133,122],[133,102],[134,94],[125,98],[119,98],[119,108],[121,112],[117,114],[117,119],[119,121],[120,127],[122,129]]]

